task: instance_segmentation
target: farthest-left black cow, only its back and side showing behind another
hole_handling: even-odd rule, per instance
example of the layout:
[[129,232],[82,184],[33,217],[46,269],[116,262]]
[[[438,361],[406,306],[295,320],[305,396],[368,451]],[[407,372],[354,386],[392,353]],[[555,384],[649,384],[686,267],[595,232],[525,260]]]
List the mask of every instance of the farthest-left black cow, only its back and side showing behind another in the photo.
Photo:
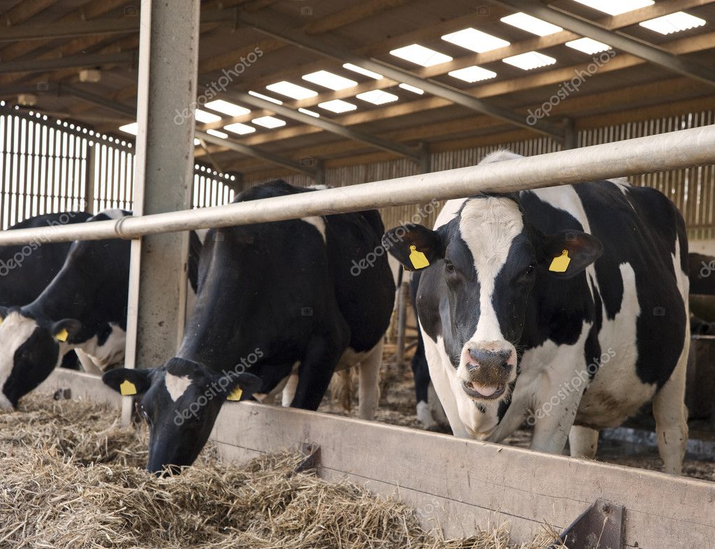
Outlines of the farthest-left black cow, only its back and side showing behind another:
[[[54,227],[87,221],[85,212],[42,214],[14,224],[8,230]],[[14,307],[33,301],[59,272],[71,242],[42,242],[0,247],[0,306]]]

